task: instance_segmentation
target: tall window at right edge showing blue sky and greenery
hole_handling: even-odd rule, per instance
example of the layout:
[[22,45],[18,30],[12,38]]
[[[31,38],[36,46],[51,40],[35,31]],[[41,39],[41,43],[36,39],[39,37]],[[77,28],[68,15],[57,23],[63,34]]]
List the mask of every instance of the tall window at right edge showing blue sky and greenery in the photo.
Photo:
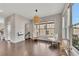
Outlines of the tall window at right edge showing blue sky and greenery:
[[79,50],[79,4],[72,5],[72,45]]

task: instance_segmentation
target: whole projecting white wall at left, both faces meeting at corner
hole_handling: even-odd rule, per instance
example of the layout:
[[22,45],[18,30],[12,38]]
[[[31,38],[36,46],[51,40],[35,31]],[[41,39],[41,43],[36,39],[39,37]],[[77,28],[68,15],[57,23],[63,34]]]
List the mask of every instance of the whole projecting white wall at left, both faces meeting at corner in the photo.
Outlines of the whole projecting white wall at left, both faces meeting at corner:
[[[5,18],[5,40],[8,40],[8,24],[11,26],[10,30],[10,41],[13,43],[20,42],[25,40],[25,24],[29,24],[29,19],[21,16],[21,15],[10,15]],[[29,26],[30,27],[30,26]],[[27,31],[27,30],[26,30]],[[18,32],[23,35],[18,36]]]

